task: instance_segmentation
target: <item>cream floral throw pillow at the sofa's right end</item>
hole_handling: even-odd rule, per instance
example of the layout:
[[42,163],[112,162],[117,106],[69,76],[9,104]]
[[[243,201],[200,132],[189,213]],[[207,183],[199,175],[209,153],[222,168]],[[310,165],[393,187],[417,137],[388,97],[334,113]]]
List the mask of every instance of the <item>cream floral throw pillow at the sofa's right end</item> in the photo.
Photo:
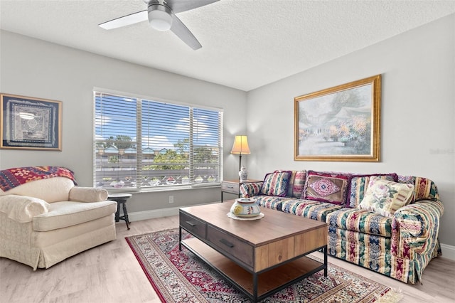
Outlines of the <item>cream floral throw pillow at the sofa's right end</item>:
[[359,207],[368,211],[392,217],[395,211],[409,204],[414,196],[414,185],[401,184],[394,181],[371,176],[368,189]]

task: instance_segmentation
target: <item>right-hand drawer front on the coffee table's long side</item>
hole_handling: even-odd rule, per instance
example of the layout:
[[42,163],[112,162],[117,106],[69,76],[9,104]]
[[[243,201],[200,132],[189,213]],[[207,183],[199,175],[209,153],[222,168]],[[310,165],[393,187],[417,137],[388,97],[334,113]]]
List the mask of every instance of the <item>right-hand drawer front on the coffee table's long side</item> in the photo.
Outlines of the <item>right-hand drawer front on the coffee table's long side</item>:
[[253,267],[253,247],[248,243],[242,242],[210,225],[207,227],[207,240],[212,245],[215,245],[218,250]]

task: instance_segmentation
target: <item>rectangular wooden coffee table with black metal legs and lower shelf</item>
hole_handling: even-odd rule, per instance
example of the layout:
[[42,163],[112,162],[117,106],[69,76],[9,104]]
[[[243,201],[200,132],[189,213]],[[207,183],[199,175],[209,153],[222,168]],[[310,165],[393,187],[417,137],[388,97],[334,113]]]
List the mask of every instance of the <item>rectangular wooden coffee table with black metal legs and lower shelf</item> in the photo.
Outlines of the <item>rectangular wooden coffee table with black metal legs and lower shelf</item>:
[[[264,218],[229,218],[234,201],[180,208],[182,245],[257,302],[324,270],[327,277],[327,224],[261,208]],[[182,240],[182,230],[192,238]],[[305,257],[323,250],[323,263]]]

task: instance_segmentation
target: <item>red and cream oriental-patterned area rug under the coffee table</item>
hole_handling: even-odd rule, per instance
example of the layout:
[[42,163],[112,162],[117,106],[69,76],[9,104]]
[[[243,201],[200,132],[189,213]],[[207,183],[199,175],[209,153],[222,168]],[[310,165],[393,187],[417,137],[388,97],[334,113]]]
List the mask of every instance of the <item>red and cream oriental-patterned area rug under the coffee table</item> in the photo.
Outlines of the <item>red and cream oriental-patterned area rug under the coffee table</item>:
[[[183,238],[188,237],[184,232]],[[192,252],[183,247],[178,250],[177,228],[126,240],[162,302],[250,302]],[[262,302],[365,303],[398,302],[400,298],[390,287],[329,263],[328,277],[321,270]]]

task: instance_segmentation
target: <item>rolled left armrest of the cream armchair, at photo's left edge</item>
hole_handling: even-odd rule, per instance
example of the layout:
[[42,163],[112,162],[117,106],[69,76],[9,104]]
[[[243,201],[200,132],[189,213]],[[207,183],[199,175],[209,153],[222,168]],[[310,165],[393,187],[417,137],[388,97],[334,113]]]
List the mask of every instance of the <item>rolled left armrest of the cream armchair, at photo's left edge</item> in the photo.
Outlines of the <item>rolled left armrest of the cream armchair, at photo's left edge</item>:
[[40,198],[18,195],[0,196],[0,211],[18,223],[27,223],[34,216],[47,213],[49,203]]

